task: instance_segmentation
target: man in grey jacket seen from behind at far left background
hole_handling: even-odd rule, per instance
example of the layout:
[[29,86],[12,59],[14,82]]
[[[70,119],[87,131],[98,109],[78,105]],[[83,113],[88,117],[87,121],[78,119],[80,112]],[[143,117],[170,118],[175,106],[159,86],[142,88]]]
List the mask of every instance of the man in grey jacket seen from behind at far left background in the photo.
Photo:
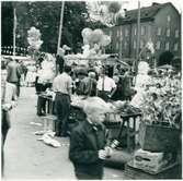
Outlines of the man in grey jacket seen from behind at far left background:
[[15,61],[15,59],[10,58],[10,62],[8,63],[7,67],[7,82],[12,83],[16,86],[16,95],[20,95],[20,77],[21,77],[21,72],[19,70],[19,63]]

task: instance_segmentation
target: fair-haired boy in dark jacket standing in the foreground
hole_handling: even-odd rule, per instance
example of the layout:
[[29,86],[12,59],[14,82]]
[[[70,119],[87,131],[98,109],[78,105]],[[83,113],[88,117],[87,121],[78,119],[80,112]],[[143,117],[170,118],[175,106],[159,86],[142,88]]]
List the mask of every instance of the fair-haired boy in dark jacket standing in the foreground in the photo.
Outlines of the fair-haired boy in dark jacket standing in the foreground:
[[101,98],[89,97],[83,106],[87,119],[71,132],[69,158],[79,180],[103,178],[103,160],[112,154],[111,147],[105,146],[105,126],[102,124],[108,109],[107,104]]

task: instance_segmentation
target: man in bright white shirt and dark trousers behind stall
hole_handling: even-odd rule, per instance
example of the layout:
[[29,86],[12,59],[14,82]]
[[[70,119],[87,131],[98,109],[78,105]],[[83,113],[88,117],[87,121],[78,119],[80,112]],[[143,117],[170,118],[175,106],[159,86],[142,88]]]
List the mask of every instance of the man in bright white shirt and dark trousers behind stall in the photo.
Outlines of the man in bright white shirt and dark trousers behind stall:
[[107,101],[116,90],[116,84],[114,80],[106,75],[105,70],[102,71],[101,77],[98,81],[96,89],[98,96],[105,101]]

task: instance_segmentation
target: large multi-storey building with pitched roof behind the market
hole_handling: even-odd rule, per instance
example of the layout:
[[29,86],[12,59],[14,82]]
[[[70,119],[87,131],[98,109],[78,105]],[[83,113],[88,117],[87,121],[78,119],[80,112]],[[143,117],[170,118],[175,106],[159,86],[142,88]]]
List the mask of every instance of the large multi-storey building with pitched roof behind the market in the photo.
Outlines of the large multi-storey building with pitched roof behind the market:
[[139,45],[139,52],[142,51],[140,58],[148,59],[152,55],[145,46],[151,40],[156,60],[164,51],[171,51],[174,57],[181,58],[181,15],[172,3],[152,3],[151,7],[140,9],[139,44],[137,15],[138,9],[126,11],[125,17],[121,17],[116,26],[104,29],[112,38],[106,51],[135,59]]

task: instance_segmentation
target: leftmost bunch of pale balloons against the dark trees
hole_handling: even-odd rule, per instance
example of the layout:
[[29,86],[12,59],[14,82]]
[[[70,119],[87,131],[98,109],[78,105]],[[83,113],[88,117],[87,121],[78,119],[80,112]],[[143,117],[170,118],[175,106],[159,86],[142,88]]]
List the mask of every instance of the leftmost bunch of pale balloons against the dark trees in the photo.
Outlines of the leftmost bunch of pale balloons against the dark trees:
[[35,27],[31,27],[30,31],[27,31],[27,41],[30,44],[30,47],[38,50],[41,48],[41,45],[43,44],[43,40],[41,40],[41,32],[39,29],[36,29]]

